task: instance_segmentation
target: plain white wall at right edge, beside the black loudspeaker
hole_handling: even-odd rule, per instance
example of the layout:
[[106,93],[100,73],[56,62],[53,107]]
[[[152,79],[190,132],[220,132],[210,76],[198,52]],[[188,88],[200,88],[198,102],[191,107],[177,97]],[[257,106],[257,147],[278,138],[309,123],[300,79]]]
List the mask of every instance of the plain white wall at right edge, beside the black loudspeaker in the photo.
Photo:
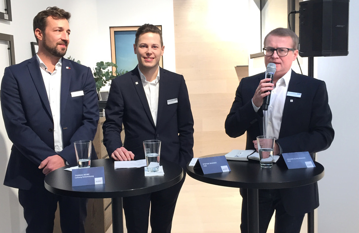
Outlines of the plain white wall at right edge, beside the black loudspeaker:
[[318,154],[325,168],[319,181],[320,233],[359,232],[359,110],[358,110],[358,51],[359,1],[349,4],[349,55],[318,58],[318,78],[325,81],[333,113],[335,137],[326,151]]

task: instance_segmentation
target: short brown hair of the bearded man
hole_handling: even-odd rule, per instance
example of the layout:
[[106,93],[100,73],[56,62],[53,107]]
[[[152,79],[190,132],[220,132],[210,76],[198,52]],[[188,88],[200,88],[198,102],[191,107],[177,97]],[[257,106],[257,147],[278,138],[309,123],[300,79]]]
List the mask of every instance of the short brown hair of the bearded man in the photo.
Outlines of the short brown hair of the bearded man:
[[[51,16],[54,19],[67,19],[67,21],[69,21],[71,17],[71,13],[63,9],[60,9],[57,6],[47,7],[46,10],[38,12],[33,21],[34,34],[36,29],[41,30],[41,32],[45,31],[46,23],[47,23],[46,19],[49,16]],[[36,36],[35,38],[36,38],[36,42],[38,42]]]

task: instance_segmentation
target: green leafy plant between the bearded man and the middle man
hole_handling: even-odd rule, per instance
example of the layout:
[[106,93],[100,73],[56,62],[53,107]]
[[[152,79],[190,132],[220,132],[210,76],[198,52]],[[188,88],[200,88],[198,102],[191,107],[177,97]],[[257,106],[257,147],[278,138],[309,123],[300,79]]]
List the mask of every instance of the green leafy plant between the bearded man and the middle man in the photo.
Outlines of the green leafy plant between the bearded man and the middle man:
[[[115,68],[115,71],[113,71],[112,67]],[[106,83],[115,77],[128,72],[127,70],[125,71],[122,69],[118,71],[117,65],[112,62],[98,62],[96,63],[94,71],[97,91],[100,91],[100,89],[104,87]]]

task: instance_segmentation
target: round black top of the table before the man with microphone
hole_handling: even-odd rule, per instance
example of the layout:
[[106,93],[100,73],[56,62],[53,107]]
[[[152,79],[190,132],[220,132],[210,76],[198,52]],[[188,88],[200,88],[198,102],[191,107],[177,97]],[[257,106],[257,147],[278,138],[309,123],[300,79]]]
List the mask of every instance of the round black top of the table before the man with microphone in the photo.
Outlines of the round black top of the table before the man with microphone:
[[[204,157],[221,156],[226,153]],[[203,157],[202,157],[203,158]],[[229,172],[203,174],[200,168],[187,164],[187,174],[192,178],[220,186],[247,189],[284,189],[315,183],[323,178],[324,167],[314,162],[316,167],[288,169],[285,162],[273,163],[272,168],[261,168],[259,161],[230,161]],[[280,163],[282,162],[282,163]]]

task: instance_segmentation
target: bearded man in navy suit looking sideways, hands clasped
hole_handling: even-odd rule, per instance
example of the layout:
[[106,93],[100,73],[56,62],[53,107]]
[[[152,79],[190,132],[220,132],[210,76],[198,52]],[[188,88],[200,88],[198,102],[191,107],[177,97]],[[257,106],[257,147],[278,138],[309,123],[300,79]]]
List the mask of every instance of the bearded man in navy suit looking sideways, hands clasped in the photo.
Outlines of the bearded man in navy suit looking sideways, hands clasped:
[[99,119],[91,69],[63,58],[70,16],[58,7],[39,12],[37,54],[5,68],[1,82],[2,116],[13,143],[4,185],[19,189],[27,233],[52,233],[57,203],[62,232],[84,233],[87,200],[51,194],[43,182],[49,172],[77,165],[73,141],[93,140]]

